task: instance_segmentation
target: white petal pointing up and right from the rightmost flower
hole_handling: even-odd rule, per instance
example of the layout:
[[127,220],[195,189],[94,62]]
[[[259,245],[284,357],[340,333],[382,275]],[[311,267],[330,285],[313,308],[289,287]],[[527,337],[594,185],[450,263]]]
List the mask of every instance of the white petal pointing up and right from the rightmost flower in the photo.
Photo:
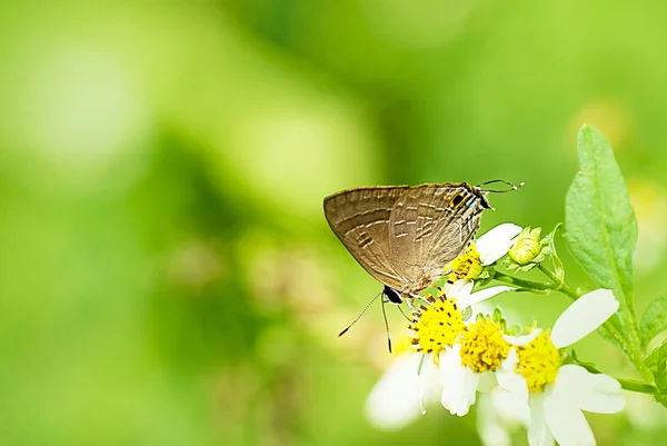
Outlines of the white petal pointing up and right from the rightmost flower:
[[556,348],[567,347],[595,331],[618,310],[618,300],[609,289],[596,289],[571,304],[556,320],[551,341]]

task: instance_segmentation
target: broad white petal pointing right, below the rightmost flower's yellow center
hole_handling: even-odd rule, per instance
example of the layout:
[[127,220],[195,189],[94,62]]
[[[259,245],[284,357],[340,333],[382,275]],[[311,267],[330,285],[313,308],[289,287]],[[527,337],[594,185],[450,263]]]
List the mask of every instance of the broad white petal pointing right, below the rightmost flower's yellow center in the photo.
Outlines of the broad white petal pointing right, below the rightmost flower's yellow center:
[[581,366],[560,367],[556,377],[557,397],[570,399],[586,412],[615,414],[625,406],[620,384],[604,374],[591,374]]

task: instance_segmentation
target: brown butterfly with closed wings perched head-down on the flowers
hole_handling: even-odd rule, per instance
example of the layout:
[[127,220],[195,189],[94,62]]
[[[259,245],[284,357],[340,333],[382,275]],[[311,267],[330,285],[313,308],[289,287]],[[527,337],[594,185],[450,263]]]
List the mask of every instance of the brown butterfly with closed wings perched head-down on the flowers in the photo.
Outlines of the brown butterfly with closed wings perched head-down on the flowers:
[[392,304],[417,297],[442,276],[492,209],[467,182],[361,187],[325,198],[325,216],[352,257]]

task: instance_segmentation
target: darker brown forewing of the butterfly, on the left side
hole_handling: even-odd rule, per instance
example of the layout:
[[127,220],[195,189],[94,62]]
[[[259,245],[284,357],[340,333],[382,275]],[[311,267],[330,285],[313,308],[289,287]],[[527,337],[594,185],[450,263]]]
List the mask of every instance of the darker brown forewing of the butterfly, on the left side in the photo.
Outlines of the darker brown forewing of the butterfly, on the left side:
[[352,257],[380,283],[400,289],[405,283],[391,257],[391,209],[408,186],[356,188],[325,198],[325,216]]

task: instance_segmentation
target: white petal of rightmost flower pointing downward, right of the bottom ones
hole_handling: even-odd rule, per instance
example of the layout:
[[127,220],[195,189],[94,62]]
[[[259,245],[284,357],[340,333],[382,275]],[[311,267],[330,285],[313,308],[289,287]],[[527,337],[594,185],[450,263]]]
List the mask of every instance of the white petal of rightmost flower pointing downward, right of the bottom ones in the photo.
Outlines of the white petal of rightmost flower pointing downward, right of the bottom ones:
[[[549,386],[548,386],[549,387]],[[571,399],[558,390],[558,383],[552,385],[554,392],[545,395],[545,418],[556,442],[565,446],[595,446],[593,430]]]

